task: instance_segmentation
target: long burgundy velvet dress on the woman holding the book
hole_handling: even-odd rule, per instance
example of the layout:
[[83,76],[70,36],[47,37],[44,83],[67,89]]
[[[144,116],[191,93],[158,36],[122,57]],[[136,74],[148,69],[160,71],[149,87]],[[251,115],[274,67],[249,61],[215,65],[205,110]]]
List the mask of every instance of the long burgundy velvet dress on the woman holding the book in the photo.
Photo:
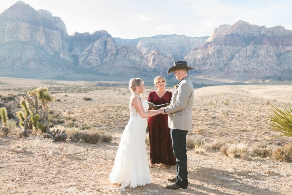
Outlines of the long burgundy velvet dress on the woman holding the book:
[[[159,98],[155,91],[148,95],[147,101],[155,105],[166,104],[171,100],[172,93],[166,93]],[[148,133],[150,142],[150,163],[176,165],[173,154],[170,128],[167,125],[167,114],[157,114],[148,118]]]

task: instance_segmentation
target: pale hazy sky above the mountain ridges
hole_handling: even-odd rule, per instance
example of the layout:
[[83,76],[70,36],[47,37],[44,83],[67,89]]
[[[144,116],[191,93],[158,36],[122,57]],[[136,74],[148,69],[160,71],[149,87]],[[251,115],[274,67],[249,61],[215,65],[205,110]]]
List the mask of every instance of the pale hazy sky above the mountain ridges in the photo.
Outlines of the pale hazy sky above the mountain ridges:
[[[1,0],[0,13],[17,1]],[[292,30],[291,0],[24,0],[35,10],[60,17],[71,35],[106,30],[135,39],[158,34],[210,36],[215,27],[238,20]]]

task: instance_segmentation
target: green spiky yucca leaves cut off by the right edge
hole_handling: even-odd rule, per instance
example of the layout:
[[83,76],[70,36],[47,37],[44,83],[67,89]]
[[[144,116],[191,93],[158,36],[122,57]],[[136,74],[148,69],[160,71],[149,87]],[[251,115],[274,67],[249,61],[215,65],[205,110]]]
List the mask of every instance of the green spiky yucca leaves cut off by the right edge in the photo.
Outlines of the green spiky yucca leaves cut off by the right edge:
[[[292,100],[292,98],[291,98]],[[288,136],[292,137],[292,109],[291,106],[288,105],[289,109],[280,109],[277,108],[275,105],[271,106],[271,114],[268,115],[266,118],[271,123],[267,123],[270,125],[270,128],[273,130],[276,130],[281,133],[281,135],[274,135],[276,136]],[[286,147],[292,147],[292,142],[283,146],[283,148]]]

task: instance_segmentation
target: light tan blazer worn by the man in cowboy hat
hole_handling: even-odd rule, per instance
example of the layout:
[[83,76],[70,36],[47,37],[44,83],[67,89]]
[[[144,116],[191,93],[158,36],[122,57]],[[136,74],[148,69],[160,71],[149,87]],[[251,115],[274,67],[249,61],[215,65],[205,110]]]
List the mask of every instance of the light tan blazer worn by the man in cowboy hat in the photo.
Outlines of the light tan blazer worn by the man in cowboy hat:
[[192,130],[193,103],[194,87],[190,77],[186,77],[174,90],[170,105],[164,108],[168,114],[168,127],[186,131]]

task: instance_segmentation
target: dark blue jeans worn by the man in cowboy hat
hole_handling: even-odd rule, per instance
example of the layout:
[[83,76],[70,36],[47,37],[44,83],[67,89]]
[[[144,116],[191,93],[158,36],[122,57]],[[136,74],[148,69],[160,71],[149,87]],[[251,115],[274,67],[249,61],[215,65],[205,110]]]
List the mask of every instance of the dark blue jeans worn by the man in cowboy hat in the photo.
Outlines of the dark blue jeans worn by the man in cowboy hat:
[[187,131],[180,129],[171,129],[171,140],[173,153],[176,158],[176,167],[178,174],[176,182],[179,187],[187,188]]

